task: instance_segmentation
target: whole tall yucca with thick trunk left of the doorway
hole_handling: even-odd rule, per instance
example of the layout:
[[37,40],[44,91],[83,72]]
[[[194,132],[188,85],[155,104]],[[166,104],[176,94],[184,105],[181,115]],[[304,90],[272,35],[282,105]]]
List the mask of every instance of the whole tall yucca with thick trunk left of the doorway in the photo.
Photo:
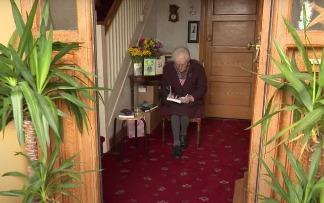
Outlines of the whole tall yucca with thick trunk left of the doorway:
[[[51,202],[55,193],[73,196],[66,188],[76,187],[76,183],[82,182],[78,175],[87,173],[72,170],[73,166],[79,164],[73,162],[77,154],[66,160],[61,159],[61,165],[54,167],[60,157],[59,147],[63,141],[61,117],[67,116],[55,101],[65,102],[75,116],[80,132],[84,131],[83,126],[88,131],[90,126],[86,110],[94,109],[82,98],[95,102],[90,91],[109,89],[94,87],[94,84],[85,85],[96,76],[76,64],[69,66],[59,63],[60,59],[80,46],[79,43],[53,42],[53,27],[48,26],[48,0],[43,6],[36,37],[31,30],[38,0],[34,1],[26,23],[15,1],[10,2],[16,30],[8,46],[0,44],[0,130],[5,131],[6,125],[14,121],[19,144],[27,146],[26,154],[16,154],[25,156],[29,166],[28,176],[17,172],[4,175],[26,178],[22,190],[2,191],[0,195],[24,196],[23,202]],[[16,36],[19,38],[17,48],[13,45]],[[41,151],[37,150],[35,141]],[[50,145],[54,145],[54,150],[49,153]]]

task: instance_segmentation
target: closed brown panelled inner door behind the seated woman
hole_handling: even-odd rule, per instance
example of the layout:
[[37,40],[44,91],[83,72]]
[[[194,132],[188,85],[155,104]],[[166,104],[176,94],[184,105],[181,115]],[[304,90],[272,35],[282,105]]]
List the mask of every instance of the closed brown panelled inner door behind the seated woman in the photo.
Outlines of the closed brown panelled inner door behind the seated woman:
[[[251,119],[258,0],[205,1],[205,116]],[[204,9],[204,8],[203,8]],[[242,67],[244,69],[242,69]]]

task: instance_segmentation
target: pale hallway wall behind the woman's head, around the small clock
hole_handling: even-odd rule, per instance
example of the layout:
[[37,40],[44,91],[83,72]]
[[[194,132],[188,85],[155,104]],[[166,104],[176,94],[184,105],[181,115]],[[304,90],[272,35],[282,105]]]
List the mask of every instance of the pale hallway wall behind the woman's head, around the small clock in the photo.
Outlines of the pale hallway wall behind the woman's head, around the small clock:
[[[199,59],[199,43],[187,43],[188,20],[200,20],[200,0],[164,0],[155,1],[156,4],[156,24],[157,39],[163,42],[163,52],[172,52],[177,46],[186,46],[191,58]],[[169,21],[169,5],[175,4],[178,7],[179,21]],[[194,5],[195,15],[190,15],[190,6]]]

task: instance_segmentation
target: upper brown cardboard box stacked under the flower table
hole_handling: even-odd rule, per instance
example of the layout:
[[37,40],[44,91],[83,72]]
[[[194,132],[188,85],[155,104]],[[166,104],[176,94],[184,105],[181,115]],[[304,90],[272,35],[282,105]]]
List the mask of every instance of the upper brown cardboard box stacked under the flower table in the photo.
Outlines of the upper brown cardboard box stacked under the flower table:
[[147,101],[149,103],[158,104],[158,82],[145,82],[138,85],[137,102],[138,104]]

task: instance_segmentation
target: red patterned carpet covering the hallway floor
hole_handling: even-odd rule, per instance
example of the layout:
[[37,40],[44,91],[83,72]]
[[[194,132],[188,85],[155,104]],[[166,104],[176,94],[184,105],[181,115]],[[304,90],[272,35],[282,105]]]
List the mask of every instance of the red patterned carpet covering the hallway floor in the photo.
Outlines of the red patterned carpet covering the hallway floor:
[[111,151],[102,158],[104,202],[232,202],[234,181],[247,170],[250,131],[244,129],[248,126],[247,120],[204,118],[200,147],[196,149],[196,126],[190,123],[189,145],[181,159],[171,156],[169,122],[164,146],[160,127],[148,135],[148,160],[144,139],[139,138],[135,149],[135,139],[127,138],[122,163],[118,153]]

